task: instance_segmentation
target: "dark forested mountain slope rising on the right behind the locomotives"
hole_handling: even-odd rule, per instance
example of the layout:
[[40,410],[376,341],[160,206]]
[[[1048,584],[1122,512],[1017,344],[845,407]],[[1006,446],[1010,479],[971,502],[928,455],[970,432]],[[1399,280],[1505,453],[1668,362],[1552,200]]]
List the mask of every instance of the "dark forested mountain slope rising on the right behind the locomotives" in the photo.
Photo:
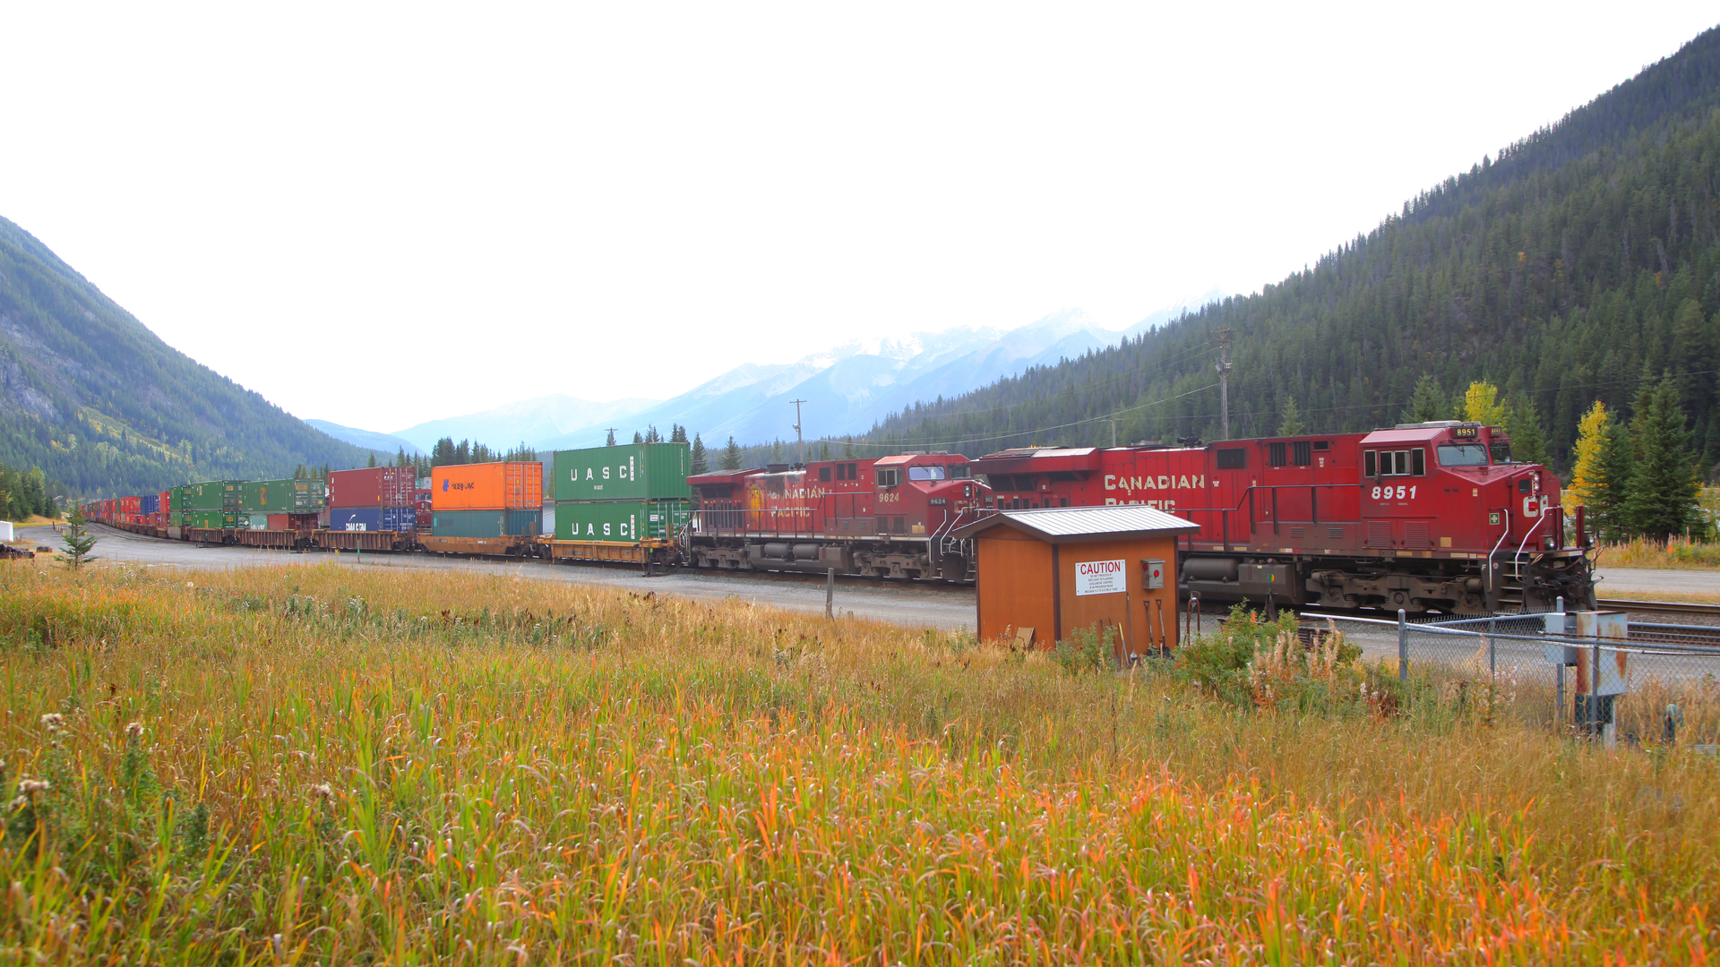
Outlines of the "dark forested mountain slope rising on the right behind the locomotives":
[[1288,399],[1319,432],[1391,423],[1433,373],[1447,392],[1498,384],[1563,463],[1591,401],[1629,411],[1644,377],[1675,373],[1720,461],[1720,31],[1256,296],[917,406],[867,442],[1108,444],[1113,413],[1120,440],[1213,439],[1226,327],[1232,435],[1275,432]]

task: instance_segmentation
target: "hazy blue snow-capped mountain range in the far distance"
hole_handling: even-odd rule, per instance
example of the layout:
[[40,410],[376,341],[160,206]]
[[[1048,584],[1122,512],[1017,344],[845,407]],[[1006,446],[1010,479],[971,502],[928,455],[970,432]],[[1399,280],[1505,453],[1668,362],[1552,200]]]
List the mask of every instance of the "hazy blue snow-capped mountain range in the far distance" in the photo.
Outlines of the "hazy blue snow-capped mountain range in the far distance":
[[408,451],[428,451],[440,437],[495,447],[523,440],[538,451],[587,447],[600,446],[609,427],[628,440],[650,425],[667,435],[674,423],[700,434],[707,446],[721,446],[731,435],[743,444],[767,444],[795,439],[793,401],[803,399],[808,440],[863,434],[915,403],[934,403],[1032,366],[1080,358],[1221,298],[1223,293],[1214,289],[1178,299],[1123,332],[1101,329],[1080,310],[1066,310],[1011,330],[963,327],[903,339],[853,341],[793,363],[745,363],[666,401],[592,403],[540,396],[483,413],[418,423],[392,435],[322,420],[310,423],[358,446],[404,440]]

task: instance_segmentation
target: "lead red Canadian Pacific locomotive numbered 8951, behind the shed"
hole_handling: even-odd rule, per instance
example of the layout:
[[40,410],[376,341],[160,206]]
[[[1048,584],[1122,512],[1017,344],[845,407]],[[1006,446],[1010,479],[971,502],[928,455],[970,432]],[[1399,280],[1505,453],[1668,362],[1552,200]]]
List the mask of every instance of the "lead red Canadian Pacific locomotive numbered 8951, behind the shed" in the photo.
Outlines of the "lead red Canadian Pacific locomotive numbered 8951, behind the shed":
[[1594,607],[1582,509],[1479,423],[1402,423],[1192,447],[1025,447],[974,461],[998,509],[1147,504],[1201,525],[1182,592],[1202,599],[1488,613]]

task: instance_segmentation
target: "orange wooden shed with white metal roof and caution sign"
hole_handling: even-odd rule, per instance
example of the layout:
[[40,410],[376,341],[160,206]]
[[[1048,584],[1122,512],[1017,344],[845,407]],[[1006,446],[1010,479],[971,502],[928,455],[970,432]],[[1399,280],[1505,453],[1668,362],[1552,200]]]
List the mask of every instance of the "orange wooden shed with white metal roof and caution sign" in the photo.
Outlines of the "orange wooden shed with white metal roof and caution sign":
[[975,542],[980,640],[1041,649],[1111,626],[1116,656],[1176,647],[1176,537],[1199,525],[1139,504],[1001,511]]

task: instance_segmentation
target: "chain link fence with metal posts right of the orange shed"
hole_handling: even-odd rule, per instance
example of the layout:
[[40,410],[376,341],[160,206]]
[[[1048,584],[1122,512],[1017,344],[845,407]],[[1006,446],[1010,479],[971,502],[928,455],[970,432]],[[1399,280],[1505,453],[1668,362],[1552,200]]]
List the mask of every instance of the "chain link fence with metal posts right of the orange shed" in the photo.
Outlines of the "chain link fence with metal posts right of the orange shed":
[[1486,716],[1608,742],[1720,745],[1720,628],[1589,614],[1300,618]]

